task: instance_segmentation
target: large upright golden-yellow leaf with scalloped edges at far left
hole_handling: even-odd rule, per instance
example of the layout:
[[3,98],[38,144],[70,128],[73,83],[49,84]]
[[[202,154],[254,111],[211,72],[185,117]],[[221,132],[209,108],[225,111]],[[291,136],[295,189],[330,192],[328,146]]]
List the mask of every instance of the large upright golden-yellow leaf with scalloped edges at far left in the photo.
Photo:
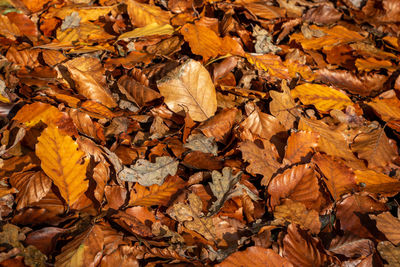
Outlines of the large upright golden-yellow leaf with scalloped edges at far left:
[[49,125],[38,141],[36,155],[43,171],[53,180],[65,201],[72,205],[88,188],[89,181],[85,178],[89,160],[78,149],[78,144],[54,125]]

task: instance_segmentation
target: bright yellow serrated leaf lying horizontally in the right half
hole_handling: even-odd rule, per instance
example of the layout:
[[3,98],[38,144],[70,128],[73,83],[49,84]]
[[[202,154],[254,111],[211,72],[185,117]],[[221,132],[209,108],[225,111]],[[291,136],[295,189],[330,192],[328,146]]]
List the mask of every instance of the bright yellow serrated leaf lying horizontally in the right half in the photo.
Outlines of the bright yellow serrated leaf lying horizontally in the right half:
[[326,85],[305,83],[291,91],[293,98],[298,97],[305,105],[314,105],[319,111],[342,110],[352,106],[353,102],[344,93]]

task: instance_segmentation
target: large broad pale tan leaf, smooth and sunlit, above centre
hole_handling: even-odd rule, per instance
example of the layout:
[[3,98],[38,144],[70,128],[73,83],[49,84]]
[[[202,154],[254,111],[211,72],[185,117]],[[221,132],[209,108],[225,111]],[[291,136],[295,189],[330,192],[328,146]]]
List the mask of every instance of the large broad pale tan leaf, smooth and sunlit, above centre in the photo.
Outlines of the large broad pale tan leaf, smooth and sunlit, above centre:
[[217,98],[208,71],[197,61],[188,60],[157,82],[165,104],[174,112],[186,109],[195,121],[215,114]]

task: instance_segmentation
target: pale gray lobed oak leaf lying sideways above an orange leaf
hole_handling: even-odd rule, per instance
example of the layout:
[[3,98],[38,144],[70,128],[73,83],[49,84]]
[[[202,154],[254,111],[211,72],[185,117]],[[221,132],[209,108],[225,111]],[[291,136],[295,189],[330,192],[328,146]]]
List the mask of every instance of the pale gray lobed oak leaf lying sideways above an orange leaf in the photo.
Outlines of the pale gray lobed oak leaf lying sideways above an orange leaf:
[[125,167],[118,176],[123,181],[138,182],[143,186],[162,185],[168,175],[176,174],[178,164],[178,161],[166,156],[156,158],[155,163],[139,159],[130,168]]

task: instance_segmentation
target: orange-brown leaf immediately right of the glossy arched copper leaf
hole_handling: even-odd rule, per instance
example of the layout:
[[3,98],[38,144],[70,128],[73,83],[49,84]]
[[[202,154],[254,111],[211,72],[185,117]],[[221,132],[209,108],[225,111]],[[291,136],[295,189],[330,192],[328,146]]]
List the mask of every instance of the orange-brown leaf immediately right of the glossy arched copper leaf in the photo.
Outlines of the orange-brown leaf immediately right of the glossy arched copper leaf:
[[357,189],[355,175],[351,168],[334,157],[317,153],[313,161],[326,178],[326,186],[335,200],[344,193]]

